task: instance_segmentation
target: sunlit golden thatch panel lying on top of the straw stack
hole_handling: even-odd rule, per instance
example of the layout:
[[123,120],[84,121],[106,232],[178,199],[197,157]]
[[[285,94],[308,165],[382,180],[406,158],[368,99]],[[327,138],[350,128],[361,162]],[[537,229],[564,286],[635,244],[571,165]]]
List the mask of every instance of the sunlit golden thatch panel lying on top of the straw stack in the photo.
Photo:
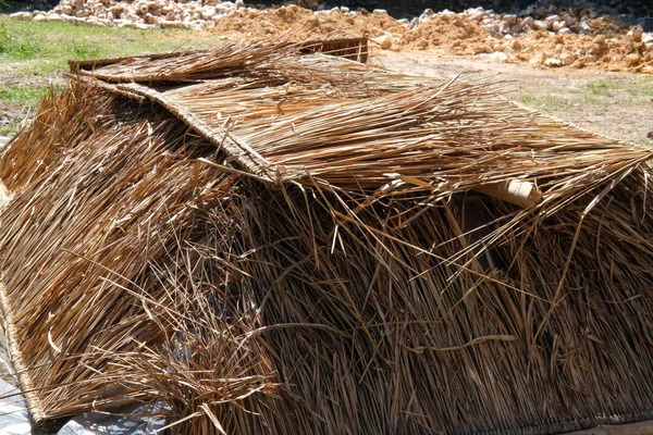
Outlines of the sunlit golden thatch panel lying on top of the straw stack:
[[[653,156],[496,98],[501,84],[416,84],[415,77],[310,55],[288,54],[258,67],[263,76],[164,91],[120,88],[159,102],[257,176],[368,195],[445,197],[538,179],[543,204],[555,207],[560,190],[578,198]],[[324,74],[330,69],[347,74]]]

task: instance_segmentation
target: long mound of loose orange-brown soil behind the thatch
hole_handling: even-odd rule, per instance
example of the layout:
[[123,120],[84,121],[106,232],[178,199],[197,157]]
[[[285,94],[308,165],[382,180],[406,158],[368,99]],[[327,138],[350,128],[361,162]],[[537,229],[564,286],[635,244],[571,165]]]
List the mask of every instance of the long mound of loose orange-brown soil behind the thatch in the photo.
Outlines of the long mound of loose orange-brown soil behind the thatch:
[[653,74],[653,51],[641,40],[641,27],[608,17],[592,20],[591,35],[556,35],[533,30],[516,37],[490,34],[466,14],[439,13],[414,28],[385,12],[323,12],[289,5],[235,11],[215,22],[212,32],[250,40],[359,37],[367,35],[383,49],[436,50],[454,55],[492,54],[503,62],[543,67],[599,67]]

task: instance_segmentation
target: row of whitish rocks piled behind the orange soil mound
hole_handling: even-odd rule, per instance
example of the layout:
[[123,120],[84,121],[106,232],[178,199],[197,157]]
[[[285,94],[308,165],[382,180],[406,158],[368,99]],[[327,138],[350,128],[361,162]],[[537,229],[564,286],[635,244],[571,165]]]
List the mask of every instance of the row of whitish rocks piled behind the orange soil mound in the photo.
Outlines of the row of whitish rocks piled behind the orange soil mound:
[[[295,0],[292,3],[311,9],[317,15],[325,13],[355,14],[354,11],[349,11],[347,8],[329,9],[325,4],[319,3],[318,0]],[[48,12],[17,12],[11,16],[17,20],[63,21],[89,26],[140,29],[175,27],[199,30],[213,27],[223,17],[248,8],[264,9],[266,5],[257,4],[252,7],[245,4],[243,0],[134,0],[131,2],[62,0],[58,7]],[[410,29],[443,14],[456,15],[448,10],[434,13],[432,10],[427,9],[419,17],[398,20],[398,23]],[[533,30],[545,30],[555,35],[592,34],[592,20],[597,18],[600,13],[590,9],[557,9],[550,7],[527,10],[522,16],[519,16],[516,14],[498,14],[493,10],[476,8],[468,9],[458,15],[479,23],[483,29],[495,38],[510,39]],[[641,32],[641,27],[633,27],[631,32]],[[387,36],[386,39],[390,41],[390,38]],[[653,34],[642,34],[634,39],[640,38],[650,49],[653,49]]]

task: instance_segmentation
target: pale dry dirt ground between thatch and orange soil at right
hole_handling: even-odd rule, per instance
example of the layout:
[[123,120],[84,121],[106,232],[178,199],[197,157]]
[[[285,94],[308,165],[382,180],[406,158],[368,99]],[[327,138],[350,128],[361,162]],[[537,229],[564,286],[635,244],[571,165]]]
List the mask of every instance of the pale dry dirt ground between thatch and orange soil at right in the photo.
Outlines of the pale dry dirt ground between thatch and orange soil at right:
[[653,77],[597,70],[544,70],[497,63],[490,57],[461,58],[430,51],[381,51],[385,67],[447,77],[505,80],[509,99],[612,138],[653,146]]

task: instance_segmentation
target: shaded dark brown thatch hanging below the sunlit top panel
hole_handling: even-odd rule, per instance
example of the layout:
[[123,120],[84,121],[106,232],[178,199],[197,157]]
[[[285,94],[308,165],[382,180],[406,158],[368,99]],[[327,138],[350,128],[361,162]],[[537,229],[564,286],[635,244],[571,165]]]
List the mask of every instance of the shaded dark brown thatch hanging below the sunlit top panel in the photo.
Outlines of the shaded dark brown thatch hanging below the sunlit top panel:
[[[394,198],[360,214],[367,232],[338,220],[345,211],[329,196],[245,185],[230,208],[204,217],[214,233],[152,266],[175,295],[167,303],[186,304],[176,311],[211,307],[175,324],[177,355],[187,358],[152,351],[124,364],[173,403],[171,424],[192,417],[173,425],[180,434],[557,433],[648,419],[651,350],[632,334],[649,336],[653,319],[642,291],[653,225],[634,234],[640,213],[609,215],[619,198],[651,200],[629,192],[639,182],[628,177],[590,214],[567,271],[591,196],[535,229],[522,222],[476,259],[452,261],[514,209],[455,197],[401,225],[416,204]],[[225,339],[232,350],[209,356]],[[256,365],[245,357],[252,348],[261,349]],[[208,387],[225,382],[234,359],[244,362],[234,389]],[[637,382],[624,383],[624,364]]]

